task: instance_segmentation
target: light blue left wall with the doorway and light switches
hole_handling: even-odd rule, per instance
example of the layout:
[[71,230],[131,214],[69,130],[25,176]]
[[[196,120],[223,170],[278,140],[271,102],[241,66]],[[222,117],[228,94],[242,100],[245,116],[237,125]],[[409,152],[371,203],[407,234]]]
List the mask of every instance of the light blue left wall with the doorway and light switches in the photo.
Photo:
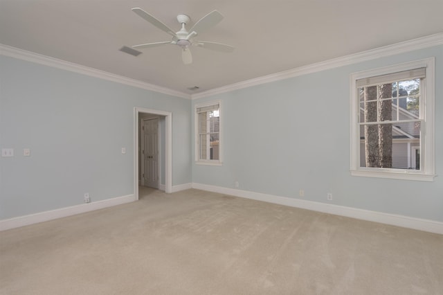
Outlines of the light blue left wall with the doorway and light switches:
[[172,185],[192,181],[190,100],[5,56],[0,82],[0,220],[134,194],[134,107],[172,112]]

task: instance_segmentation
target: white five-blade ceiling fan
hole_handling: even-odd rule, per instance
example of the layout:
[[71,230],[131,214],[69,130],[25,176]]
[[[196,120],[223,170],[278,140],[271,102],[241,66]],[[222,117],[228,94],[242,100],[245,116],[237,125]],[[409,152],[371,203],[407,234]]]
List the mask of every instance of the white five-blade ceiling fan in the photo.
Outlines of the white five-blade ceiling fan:
[[139,44],[132,46],[132,48],[150,48],[165,44],[175,44],[181,47],[181,58],[183,60],[183,64],[192,63],[192,54],[190,51],[191,46],[199,46],[221,52],[232,52],[234,50],[234,47],[230,45],[194,40],[199,33],[202,33],[205,30],[208,30],[208,28],[215,26],[221,21],[221,19],[223,19],[223,15],[221,15],[217,10],[209,12],[208,15],[202,17],[199,21],[197,21],[197,23],[195,23],[194,26],[192,26],[189,31],[186,30],[186,24],[189,23],[190,17],[188,17],[188,15],[177,15],[177,21],[179,21],[179,24],[181,24],[181,29],[177,33],[174,33],[172,29],[168,28],[168,26],[159,21],[159,19],[156,19],[141,8],[132,8],[132,11],[136,12],[137,15],[146,21],[149,21],[152,25],[172,36],[171,41]]

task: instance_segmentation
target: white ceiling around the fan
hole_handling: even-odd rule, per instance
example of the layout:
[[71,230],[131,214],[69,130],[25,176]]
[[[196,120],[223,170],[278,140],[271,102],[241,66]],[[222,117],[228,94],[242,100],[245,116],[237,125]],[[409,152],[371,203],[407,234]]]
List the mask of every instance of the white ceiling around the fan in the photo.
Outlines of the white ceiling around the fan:
[[[179,30],[212,10],[224,19],[197,39],[235,46],[233,53],[178,46],[122,46],[169,41],[131,8]],[[443,32],[443,0],[0,0],[0,44],[181,91],[198,93],[299,66]],[[200,87],[190,91],[189,87]]]

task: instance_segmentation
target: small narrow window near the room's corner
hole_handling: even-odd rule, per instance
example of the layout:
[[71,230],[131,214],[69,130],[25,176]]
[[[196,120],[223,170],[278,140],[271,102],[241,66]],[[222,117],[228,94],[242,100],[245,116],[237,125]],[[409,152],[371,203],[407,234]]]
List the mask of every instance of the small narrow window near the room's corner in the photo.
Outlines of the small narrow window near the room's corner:
[[221,164],[221,103],[195,107],[195,159],[202,164]]

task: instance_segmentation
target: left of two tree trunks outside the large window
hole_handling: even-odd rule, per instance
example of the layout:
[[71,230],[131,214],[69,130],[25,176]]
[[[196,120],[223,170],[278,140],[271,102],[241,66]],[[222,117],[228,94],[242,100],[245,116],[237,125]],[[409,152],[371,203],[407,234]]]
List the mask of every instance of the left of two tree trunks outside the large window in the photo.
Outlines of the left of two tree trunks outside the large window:
[[[365,87],[365,122],[377,121],[377,86]],[[365,162],[366,167],[379,166],[379,133],[377,125],[365,125]]]

